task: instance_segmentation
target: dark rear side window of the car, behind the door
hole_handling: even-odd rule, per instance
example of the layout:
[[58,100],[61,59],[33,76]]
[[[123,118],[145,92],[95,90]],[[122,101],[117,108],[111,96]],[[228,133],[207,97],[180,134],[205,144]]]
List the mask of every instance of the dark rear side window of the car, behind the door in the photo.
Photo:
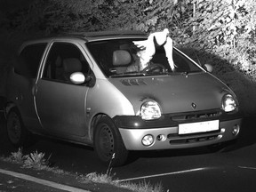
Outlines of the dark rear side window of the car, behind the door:
[[21,76],[36,78],[37,70],[42,60],[45,44],[29,44],[26,46],[15,63],[14,71]]

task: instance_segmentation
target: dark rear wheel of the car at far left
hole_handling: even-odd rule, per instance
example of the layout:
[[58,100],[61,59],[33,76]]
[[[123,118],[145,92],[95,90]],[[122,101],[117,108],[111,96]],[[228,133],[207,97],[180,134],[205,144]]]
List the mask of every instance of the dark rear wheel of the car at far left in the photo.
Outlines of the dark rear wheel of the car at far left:
[[18,109],[12,108],[7,115],[6,122],[7,136],[15,147],[28,146],[30,132],[24,126]]

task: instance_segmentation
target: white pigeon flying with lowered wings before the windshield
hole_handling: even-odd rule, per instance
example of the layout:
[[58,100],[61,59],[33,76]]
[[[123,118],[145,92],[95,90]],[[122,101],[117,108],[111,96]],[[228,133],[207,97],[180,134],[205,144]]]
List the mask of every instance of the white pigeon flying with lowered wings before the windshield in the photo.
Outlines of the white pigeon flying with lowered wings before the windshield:
[[137,52],[140,57],[140,70],[148,67],[148,62],[152,60],[156,53],[156,46],[164,45],[164,50],[166,57],[168,59],[169,65],[172,71],[175,68],[174,62],[172,60],[172,38],[169,36],[170,32],[168,28],[164,28],[161,32],[155,32],[148,36],[147,40],[144,41],[133,41],[141,51]]

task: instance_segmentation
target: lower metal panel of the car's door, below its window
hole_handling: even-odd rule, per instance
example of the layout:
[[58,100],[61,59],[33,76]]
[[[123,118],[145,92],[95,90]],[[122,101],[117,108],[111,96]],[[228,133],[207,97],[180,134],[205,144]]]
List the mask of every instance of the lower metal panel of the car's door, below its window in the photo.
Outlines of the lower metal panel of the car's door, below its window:
[[84,100],[88,88],[44,79],[36,85],[36,107],[44,131],[65,137],[84,136],[87,127]]

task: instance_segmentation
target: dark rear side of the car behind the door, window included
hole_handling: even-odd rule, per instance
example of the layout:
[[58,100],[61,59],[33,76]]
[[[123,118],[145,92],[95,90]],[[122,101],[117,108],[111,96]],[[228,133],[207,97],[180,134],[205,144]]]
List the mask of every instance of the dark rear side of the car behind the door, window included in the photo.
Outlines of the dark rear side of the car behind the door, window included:
[[34,100],[36,76],[47,43],[24,44],[7,82],[8,98],[15,101],[28,130],[41,128]]

